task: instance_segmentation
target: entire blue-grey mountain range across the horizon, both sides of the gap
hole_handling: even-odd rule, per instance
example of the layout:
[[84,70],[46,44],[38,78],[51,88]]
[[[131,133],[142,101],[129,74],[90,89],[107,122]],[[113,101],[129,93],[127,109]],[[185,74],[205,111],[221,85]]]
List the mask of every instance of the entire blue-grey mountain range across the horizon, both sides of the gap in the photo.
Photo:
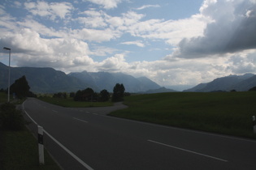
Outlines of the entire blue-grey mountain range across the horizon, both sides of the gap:
[[[0,62],[0,89],[7,89],[8,85],[8,66]],[[146,77],[135,78],[129,74],[108,73],[108,72],[76,72],[65,74],[63,71],[53,68],[37,67],[11,67],[11,84],[23,75],[26,76],[30,91],[36,93],[54,92],[76,92],[87,87],[93,91],[106,89],[112,92],[116,83],[123,83],[126,92],[132,93],[160,93],[171,92],[174,90],[160,87],[157,83]],[[210,83],[200,83],[195,87],[184,91],[248,91],[256,87],[256,75],[229,75],[214,79]]]

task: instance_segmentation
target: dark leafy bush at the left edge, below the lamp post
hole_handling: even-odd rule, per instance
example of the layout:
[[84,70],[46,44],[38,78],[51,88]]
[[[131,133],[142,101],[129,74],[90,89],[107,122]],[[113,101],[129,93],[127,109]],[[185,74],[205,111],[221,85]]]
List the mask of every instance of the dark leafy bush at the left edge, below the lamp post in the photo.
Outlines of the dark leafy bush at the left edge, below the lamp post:
[[21,111],[15,109],[15,104],[0,105],[0,130],[23,130],[24,118]]

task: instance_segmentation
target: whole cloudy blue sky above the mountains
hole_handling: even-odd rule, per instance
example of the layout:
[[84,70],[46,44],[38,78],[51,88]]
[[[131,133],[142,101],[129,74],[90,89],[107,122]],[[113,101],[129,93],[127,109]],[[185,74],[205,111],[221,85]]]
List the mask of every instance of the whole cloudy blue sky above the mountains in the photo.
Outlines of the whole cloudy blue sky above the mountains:
[[0,62],[123,72],[160,86],[256,74],[256,0],[0,2]]

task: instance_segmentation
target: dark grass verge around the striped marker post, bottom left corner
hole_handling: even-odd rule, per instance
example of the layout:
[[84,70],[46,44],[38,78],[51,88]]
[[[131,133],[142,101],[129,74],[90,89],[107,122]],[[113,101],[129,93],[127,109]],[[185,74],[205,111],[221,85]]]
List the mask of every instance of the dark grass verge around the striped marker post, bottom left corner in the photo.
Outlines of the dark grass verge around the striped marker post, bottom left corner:
[[38,143],[27,129],[2,130],[0,169],[60,169],[45,151],[45,165],[39,165]]

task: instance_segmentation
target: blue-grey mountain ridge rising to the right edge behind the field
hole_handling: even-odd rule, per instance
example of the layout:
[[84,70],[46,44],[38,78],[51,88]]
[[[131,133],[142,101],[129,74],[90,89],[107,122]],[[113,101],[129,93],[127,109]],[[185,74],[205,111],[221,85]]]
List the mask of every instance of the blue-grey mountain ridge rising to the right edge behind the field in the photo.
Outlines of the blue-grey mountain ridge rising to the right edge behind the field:
[[248,91],[250,88],[256,86],[256,75],[244,74],[244,75],[229,75],[226,77],[214,79],[210,83],[201,83],[196,87],[189,88],[185,91]]

